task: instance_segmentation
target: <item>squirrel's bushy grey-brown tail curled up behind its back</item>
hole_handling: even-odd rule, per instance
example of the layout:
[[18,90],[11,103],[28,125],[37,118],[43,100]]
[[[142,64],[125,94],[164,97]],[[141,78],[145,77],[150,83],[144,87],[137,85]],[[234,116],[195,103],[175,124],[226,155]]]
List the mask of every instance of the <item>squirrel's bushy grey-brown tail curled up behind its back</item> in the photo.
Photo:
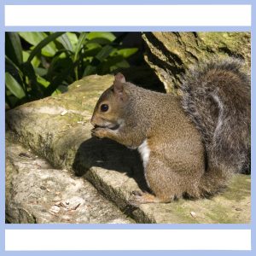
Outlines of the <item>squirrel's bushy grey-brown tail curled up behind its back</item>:
[[241,64],[233,58],[215,59],[192,70],[182,85],[183,109],[206,148],[202,195],[216,193],[232,173],[250,172],[250,79]]

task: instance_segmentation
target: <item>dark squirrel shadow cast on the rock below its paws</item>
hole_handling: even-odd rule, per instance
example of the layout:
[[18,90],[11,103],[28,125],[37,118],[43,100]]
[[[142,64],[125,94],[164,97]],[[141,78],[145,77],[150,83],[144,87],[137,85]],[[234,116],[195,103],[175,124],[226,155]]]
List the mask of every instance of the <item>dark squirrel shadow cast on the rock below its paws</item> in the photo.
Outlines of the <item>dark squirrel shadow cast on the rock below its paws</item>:
[[148,190],[143,177],[143,164],[137,150],[125,148],[107,138],[91,137],[79,146],[73,170],[77,176],[83,176],[93,166],[125,172],[128,177],[135,179],[140,189]]

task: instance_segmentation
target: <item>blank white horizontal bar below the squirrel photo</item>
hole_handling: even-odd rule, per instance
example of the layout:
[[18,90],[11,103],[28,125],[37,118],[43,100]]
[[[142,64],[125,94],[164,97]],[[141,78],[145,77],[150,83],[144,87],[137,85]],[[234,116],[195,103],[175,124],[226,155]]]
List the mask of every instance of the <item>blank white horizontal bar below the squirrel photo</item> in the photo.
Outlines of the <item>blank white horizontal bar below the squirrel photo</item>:
[[7,251],[216,249],[251,250],[251,230],[5,230]]

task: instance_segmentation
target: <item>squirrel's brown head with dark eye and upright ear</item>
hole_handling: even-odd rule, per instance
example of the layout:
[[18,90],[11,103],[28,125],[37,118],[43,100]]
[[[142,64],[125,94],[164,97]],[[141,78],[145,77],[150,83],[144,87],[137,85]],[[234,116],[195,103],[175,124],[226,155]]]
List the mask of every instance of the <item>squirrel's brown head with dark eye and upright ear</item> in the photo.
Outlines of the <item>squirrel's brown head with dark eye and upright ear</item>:
[[108,128],[112,130],[119,129],[123,123],[123,113],[127,102],[125,92],[125,76],[118,73],[114,77],[113,85],[102,93],[92,118],[91,125],[95,127]]

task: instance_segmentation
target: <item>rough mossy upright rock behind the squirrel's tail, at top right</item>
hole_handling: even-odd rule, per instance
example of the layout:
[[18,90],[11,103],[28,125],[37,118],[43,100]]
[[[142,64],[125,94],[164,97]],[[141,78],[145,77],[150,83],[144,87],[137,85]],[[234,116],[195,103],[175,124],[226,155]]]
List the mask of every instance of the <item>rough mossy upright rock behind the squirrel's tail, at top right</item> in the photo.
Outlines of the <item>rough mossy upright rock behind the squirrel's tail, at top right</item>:
[[251,70],[250,32],[147,32],[143,40],[145,60],[167,92],[177,93],[189,67],[216,55],[239,57],[245,61],[244,71]]

